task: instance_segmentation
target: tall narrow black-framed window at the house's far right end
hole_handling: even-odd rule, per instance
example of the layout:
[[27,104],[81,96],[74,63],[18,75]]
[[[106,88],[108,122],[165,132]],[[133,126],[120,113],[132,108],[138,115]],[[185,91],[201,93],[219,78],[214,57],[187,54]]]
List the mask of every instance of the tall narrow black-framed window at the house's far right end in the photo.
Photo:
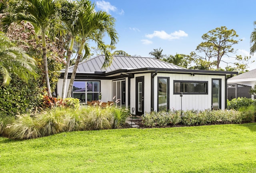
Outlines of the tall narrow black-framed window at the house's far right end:
[[221,109],[221,80],[212,79],[212,106],[213,109]]

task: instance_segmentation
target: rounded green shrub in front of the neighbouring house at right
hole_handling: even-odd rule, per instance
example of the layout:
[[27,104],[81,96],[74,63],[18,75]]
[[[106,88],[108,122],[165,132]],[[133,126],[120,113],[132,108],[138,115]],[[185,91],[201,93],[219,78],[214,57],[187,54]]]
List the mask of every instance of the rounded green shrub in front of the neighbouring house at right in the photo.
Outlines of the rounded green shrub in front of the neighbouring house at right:
[[235,109],[238,110],[240,107],[248,107],[254,104],[253,99],[246,97],[238,97],[234,98],[231,101],[227,100],[227,109]]

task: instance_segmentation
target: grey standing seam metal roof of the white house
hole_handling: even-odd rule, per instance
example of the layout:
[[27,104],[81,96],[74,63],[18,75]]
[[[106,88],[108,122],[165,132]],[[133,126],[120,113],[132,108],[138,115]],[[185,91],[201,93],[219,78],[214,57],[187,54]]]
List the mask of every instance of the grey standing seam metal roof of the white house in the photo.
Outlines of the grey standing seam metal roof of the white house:
[[[78,64],[77,73],[86,72],[110,72],[118,69],[139,69],[139,68],[163,68],[163,69],[186,69],[156,58],[135,57],[135,56],[113,56],[112,64],[106,68],[102,67],[105,60],[104,55],[90,58]],[[74,66],[70,66],[68,72],[72,72]],[[61,70],[64,72],[65,70]]]

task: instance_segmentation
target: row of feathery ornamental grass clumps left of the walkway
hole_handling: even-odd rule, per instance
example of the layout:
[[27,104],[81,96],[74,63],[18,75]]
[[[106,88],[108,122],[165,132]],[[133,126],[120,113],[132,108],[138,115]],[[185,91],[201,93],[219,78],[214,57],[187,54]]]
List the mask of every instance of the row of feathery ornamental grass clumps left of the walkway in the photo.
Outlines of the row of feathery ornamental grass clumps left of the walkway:
[[0,135],[13,139],[30,139],[64,131],[120,128],[130,115],[127,109],[117,107],[87,107],[63,109],[61,107],[36,114],[0,117]]

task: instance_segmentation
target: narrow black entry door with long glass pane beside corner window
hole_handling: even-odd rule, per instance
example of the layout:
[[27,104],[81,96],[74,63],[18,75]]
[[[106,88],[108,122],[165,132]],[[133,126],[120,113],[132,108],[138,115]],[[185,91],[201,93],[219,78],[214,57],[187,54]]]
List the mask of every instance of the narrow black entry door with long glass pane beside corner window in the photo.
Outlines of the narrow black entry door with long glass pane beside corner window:
[[144,114],[144,76],[136,78],[136,115]]

